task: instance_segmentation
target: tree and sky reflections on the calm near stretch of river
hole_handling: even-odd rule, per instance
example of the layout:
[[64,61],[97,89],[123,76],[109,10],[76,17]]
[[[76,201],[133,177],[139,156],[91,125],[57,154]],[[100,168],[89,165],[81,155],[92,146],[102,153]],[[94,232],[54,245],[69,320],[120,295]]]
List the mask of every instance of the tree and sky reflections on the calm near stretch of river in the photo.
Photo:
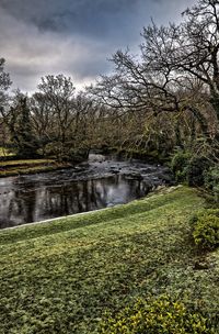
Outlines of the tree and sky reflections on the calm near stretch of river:
[[21,187],[18,178],[0,180],[0,227],[92,211],[126,203],[148,193],[143,180],[114,175],[101,179],[47,185],[32,181]]

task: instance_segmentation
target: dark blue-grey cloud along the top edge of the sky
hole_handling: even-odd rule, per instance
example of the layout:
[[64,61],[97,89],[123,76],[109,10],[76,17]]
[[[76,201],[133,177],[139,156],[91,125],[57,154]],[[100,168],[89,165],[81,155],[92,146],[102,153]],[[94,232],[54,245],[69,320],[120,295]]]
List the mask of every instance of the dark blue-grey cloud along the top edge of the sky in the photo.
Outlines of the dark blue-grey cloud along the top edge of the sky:
[[[91,37],[115,37],[129,22],[135,30],[143,0],[1,0],[1,7],[15,19],[35,24],[41,31],[77,33]],[[146,1],[147,2],[147,1]]]

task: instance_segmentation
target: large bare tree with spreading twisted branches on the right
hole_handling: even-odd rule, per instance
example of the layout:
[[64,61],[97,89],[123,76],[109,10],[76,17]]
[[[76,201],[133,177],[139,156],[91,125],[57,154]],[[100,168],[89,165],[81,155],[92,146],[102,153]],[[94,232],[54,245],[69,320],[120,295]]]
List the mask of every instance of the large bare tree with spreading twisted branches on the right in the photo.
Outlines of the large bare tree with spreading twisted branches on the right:
[[188,112],[209,135],[209,114],[215,113],[215,131],[219,123],[219,1],[199,0],[183,18],[178,25],[145,27],[140,55],[118,51],[115,74],[91,91],[118,115]]

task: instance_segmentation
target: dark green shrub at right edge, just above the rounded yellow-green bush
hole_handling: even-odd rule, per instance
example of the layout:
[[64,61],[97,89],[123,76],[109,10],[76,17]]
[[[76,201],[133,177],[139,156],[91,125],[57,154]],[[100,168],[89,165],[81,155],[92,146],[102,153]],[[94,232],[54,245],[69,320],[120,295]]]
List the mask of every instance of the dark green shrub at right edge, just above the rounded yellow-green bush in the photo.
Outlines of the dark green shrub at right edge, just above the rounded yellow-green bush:
[[205,187],[212,191],[215,201],[219,202],[219,167],[210,167],[205,172]]

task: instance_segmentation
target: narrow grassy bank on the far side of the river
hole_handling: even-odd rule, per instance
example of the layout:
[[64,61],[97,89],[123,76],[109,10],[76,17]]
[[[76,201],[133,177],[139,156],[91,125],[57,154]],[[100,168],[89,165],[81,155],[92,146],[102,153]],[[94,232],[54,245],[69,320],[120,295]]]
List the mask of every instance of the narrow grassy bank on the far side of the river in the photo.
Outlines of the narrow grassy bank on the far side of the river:
[[57,163],[53,159],[24,159],[0,162],[0,177],[50,171],[67,167],[70,167],[70,164]]

